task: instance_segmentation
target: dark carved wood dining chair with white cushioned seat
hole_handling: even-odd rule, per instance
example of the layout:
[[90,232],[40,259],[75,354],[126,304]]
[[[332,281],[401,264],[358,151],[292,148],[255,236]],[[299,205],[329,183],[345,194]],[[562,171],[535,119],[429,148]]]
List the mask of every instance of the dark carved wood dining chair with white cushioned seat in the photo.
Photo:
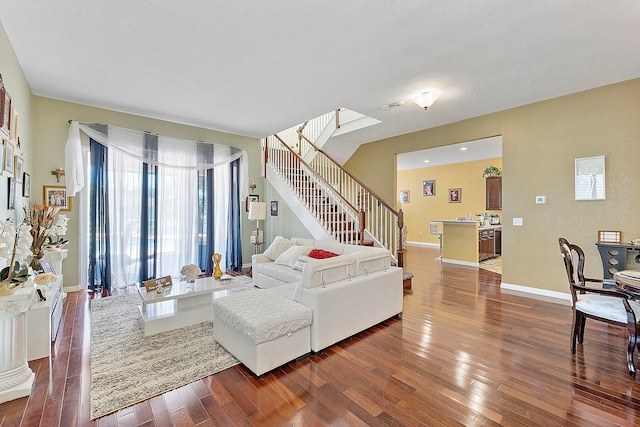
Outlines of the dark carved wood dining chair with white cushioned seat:
[[[584,276],[585,256],[578,245],[566,239],[558,239],[560,253],[564,260],[571,291],[571,307],[573,322],[571,325],[571,353],[576,353],[576,341],[584,341],[584,329],[587,318],[625,327],[629,333],[627,345],[627,367],[631,375],[636,374],[633,361],[638,339],[638,318],[640,304],[632,294],[621,289],[603,289],[602,279],[591,279]],[[587,286],[588,283],[599,283],[600,287]]]

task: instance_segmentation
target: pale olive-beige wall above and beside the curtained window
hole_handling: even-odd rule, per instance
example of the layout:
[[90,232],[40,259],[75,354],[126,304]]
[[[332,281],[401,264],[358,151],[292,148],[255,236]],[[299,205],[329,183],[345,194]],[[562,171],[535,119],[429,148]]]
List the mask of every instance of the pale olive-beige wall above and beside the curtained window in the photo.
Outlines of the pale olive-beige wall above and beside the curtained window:
[[[104,110],[100,108],[88,107],[86,105],[74,104],[70,102],[57,101],[49,98],[35,97],[34,102],[34,139],[35,152],[34,169],[32,176],[32,200],[42,199],[43,185],[56,185],[55,176],[51,175],[52,170],[64,165],[64,146],[69,130],[68,120],[78,120],[81,122],[108,123],[140,131],[149,131],[161,135],[172,136],[199,141],[211,141],[218,144],[228,144],[247,150],[249,153],[249,182],[257,185],[256,193],[263,194],[263,180],[260,176],[260,144],[254,138],[247,138],[213,130],[197,128],[193,126],[180,125],[162,120],[150,119],[147,117],[132,114],[119,113],[116,111]],[[64,178],[60,185],[64,184]],[[247,189],[248,191],[248,189]],[[69,231],[69,256],[64,262],[65,286],[73,286],[79,283],[79,253],[78,242],[81,238],[80,224],[80,199],[82,195],[72,199],[72,210],[67,215],[70,218]],[[251,263],[253,247],[248,244],[249,232],[255,229],[255,221],[249,221],[247,215],[243,215],[243,263]],[[86,230],[83,230],[84,234]]]

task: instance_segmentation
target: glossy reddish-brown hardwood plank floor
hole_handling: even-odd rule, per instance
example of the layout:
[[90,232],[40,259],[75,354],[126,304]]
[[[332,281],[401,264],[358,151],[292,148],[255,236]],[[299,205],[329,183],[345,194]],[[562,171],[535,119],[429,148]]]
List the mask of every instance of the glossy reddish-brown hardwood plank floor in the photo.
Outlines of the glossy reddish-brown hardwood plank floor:
[[[440,266],[410,247],[401,319],[256,378],[242,365],[89,421],[89,299],[69,294],[30,397],[0,426],[640,425],[622,329],[588,321],[569,351],[569,306],[500,290],[500,275]],[[562,268],[558,265],[541,268]]]

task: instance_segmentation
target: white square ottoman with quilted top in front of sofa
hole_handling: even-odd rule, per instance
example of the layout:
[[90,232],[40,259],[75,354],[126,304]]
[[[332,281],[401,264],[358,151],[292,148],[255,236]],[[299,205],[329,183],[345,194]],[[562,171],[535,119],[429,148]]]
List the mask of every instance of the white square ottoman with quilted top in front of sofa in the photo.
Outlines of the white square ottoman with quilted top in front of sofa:
[[311,351],[313,312],[268,290],[213,302],[213,336],[256,375]]

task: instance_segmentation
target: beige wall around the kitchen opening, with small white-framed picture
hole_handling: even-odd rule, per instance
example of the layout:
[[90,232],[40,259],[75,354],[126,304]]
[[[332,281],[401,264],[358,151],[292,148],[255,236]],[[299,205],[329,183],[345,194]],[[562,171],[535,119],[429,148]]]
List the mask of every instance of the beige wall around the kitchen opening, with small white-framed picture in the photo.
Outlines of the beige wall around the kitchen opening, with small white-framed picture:
[[[502,135],[503,282],[567,292],[559,236],[585,249],[593,277],[602,277],[598,230],[640,238],[639,99],[640,79],[634,79],[372,142],[346,166],[395,202],[396,153]],[[574,160],[599,155],[606,200],[575,201]],[[547,204],[536,205],[537,195],[547,196]],[[524,225],[511,225],[514,217]]]

